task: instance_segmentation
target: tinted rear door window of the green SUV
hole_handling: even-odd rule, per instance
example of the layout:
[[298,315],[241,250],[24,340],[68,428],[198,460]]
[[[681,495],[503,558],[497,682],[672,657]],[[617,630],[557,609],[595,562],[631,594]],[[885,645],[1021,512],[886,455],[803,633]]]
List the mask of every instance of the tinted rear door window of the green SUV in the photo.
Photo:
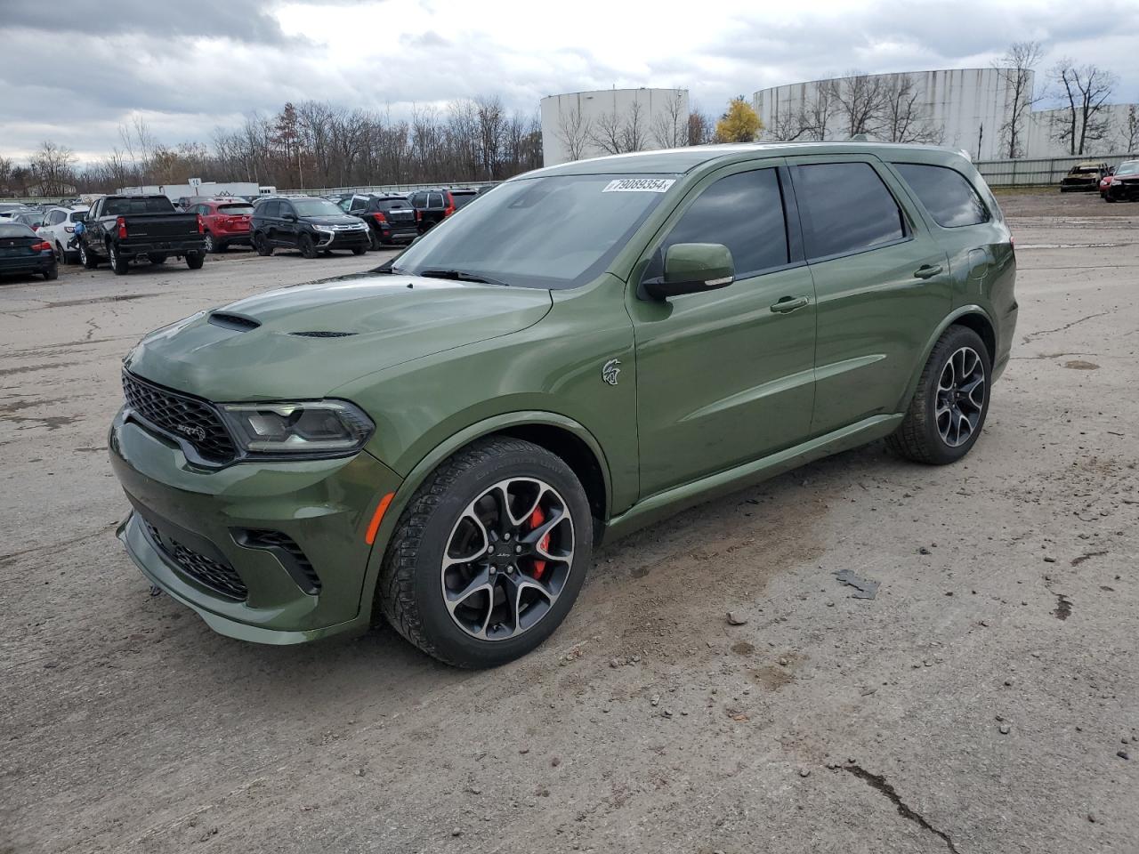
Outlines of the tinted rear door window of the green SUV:
[[906,237],[902,212],[869,163],[795,166],[794,181],[808,260]]

